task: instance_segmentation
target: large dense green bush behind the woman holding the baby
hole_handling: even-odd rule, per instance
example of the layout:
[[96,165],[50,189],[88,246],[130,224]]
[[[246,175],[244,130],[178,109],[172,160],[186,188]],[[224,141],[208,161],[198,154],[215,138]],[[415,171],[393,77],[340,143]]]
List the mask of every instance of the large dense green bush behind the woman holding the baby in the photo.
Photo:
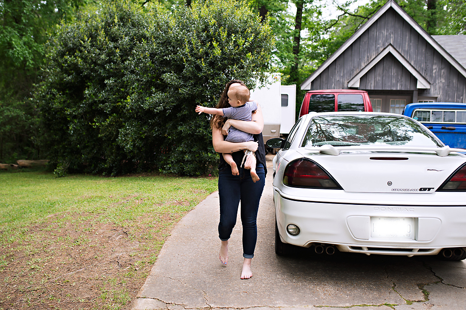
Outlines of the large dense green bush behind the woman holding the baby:
[[114,0],[63,25],[40,87],[43,147],[71,171],[211,172],[207,115],[225,83],[267,71],[273,42],[244,2],[168,12]]

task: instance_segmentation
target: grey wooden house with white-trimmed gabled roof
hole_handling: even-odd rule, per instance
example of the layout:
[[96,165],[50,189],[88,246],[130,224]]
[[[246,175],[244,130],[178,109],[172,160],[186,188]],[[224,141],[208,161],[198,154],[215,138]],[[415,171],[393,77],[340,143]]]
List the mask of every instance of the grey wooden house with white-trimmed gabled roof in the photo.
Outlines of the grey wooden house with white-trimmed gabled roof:
[[411,102],[466,103],[466,36],[431,36],[395,1],[387,3],[302,84],[359,89],[374,111]]

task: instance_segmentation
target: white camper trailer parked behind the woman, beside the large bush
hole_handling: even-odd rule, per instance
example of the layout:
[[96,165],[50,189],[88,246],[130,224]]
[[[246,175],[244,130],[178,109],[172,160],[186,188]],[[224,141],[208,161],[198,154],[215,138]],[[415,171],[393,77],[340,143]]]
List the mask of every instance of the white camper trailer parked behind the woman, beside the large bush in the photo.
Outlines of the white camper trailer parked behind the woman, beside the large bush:
[[250,100],[257,101],[262,108],[264,143],[290,132],[295,124],[296,85],[282,86],[280,74],[272,74],[266,86],[251,90]]

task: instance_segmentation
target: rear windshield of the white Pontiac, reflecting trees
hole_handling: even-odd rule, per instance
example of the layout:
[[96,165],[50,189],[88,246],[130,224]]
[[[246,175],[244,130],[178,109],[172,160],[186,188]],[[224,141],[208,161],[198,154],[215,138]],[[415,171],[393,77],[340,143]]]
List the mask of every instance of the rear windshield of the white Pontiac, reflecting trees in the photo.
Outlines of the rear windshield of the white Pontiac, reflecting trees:
[[389,144],[442,147],[421,125],[390,115],[335,115],[314,117],[302,146]]

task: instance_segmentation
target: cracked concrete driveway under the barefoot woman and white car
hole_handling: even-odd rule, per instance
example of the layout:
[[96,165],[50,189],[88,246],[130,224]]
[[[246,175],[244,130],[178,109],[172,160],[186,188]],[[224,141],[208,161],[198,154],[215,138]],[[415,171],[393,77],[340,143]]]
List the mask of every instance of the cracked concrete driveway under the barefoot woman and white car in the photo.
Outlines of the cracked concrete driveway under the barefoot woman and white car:
[[229,263],[218,260],[218,193],[172,231],[133,310],[306,308],[364,310],[466,309],[466,263],[435,257],[328,256],[274,252],[272,169],[261,199],[253,277],[241,280],[241,221],[230,240]]

